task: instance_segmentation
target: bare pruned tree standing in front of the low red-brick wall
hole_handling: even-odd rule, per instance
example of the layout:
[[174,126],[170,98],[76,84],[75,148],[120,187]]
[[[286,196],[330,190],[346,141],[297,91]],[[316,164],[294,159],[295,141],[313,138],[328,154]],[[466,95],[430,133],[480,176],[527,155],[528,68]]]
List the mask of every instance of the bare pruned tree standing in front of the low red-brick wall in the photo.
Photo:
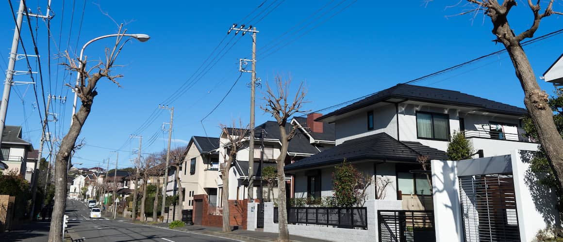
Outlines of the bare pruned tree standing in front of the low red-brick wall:
[[223,201],[223,232],[231,232],[230,225],[230,211],[229,211],[229,170],[235,164],[236,152],[242,147],[242,141],[244,136],[248,133],[248,126],[243,128],[242,121],[239,121],[239,127],[235,127],[235,121],[233,121],[232,127],[227,127],[221,125],[223,133],[226,135],[229,143],[225,145],[223,150],[224,162],[220,164],[221,180],[223,183],[223,190],[221,193],[221,200]]

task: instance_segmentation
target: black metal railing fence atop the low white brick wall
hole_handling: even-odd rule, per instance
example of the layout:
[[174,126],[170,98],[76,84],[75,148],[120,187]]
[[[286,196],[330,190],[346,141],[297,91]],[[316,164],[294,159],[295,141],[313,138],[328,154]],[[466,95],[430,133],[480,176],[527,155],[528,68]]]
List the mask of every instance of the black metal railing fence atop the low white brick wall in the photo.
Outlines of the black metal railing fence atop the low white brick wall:
[[[274,208],[274,222],[278,222],[278,208]],[[368,229],[368,211],[365,207],[291,207],[288,223],[337,226],[345,229]]]

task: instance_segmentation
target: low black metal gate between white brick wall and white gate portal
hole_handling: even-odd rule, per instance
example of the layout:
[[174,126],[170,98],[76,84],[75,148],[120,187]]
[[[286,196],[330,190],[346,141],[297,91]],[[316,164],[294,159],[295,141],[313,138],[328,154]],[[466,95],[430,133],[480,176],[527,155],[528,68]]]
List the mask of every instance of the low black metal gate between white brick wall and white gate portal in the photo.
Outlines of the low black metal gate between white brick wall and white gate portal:
[[432,211],[380,210],[377,220],[380,242],[436,241]]

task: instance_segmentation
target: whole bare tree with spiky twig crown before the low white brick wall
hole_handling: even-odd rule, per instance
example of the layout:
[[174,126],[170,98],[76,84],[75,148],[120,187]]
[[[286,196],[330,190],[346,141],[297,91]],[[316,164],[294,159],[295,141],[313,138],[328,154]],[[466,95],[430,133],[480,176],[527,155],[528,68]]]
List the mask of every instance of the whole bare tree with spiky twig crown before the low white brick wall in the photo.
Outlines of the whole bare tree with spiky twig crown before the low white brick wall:
[[303,110],[303,104],[305,101],[306,90],[303,88],[303,83],[299,85],[295,97],[293,100],[288,101],[289,95],[289,84],[291,79],[282,80],[282,77],[277,76],[275,78],[275,91],[270,88],[270,85],[266,83],[266,93],[264,95],[264,100],[266,104],[260,106],[260,108],[271,115],[278,122],[278,127],[280,130],[280,141],[282,142],[282,148],[280,150],[280,156],[276,159],[278,163],[278,207],[279,207],[279,236],[278,241],[289,241],[289,230],[287,228],[287,201],[285,199],[285,157],[287,156],[287,150],[289,146],[289,141],[295,136],[297,126],[292,126],[286,129],[288,124],[288,119],[296,113],[306,113],[309,111]]

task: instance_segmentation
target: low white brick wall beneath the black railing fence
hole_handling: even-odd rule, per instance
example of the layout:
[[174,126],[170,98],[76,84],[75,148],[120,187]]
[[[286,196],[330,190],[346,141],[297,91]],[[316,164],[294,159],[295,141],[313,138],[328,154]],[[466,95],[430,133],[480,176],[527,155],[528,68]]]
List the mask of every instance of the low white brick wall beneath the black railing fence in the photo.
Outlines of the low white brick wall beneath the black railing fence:
[[[328,241],[377,241],[378,240],[378,210],[400,210],[403,207],[401,201],[392,200],[368,200],[365,203],[368,208],[368,229],[342,229],[333,226],[319,225],[288,225],[290,235],[298,235],[307,238]],[[264,204],[264,232],[279,232],[278,223],[274,223],[274,203]]]

